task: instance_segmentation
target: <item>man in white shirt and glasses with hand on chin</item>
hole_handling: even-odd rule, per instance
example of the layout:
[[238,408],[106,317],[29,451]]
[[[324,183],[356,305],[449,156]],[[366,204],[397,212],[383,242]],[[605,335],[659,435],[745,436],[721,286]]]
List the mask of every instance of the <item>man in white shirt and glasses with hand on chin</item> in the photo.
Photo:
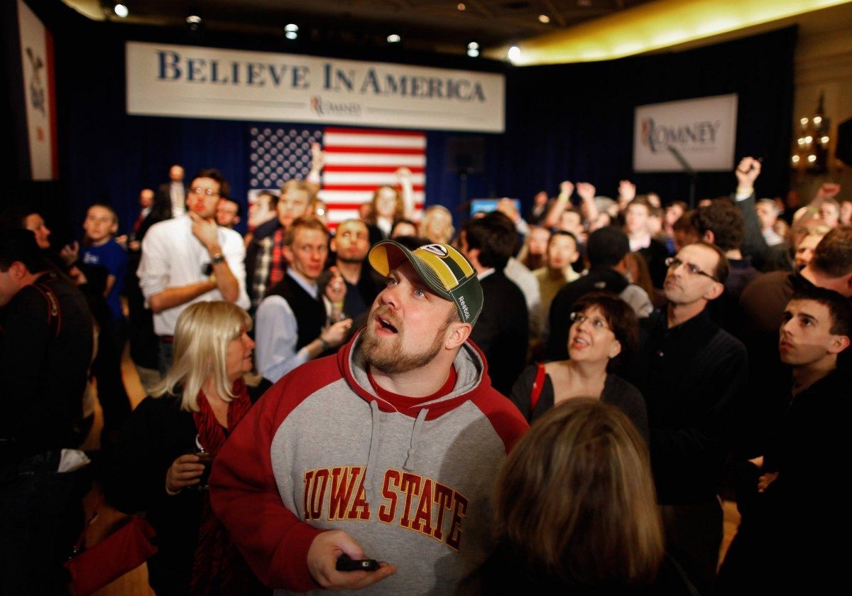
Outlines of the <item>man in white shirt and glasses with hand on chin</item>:
[[153,225],[142,240],[137,275],[154,312],[160,374],[171,367],[175,324],[189,304],[225,300],[249,307],[243,239],[216,225],[216,206],[229,191],[220,171],[199,171],[187,191],[187,213]]

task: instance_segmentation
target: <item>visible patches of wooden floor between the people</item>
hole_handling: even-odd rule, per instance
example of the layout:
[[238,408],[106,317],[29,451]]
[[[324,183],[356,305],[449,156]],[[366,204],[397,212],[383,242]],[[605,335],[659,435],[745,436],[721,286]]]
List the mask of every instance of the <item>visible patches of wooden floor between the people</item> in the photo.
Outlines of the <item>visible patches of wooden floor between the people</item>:
[[[130,360],[129,351],[125,350],[124,358],[122,359],[122,375],[124,376],[124,387],[130,396],[130,403],[135,408],[139,402],[145,397],[145,390],[142,388],[139,375]],[[103,414],[101,413],[101,405],[95,404],[95,424],[92,426],[92,431],[86,442],[83,443],[83,449],[96,449],[100,447],[101,426],[103,425]],[[88,517],[89,512],[95,501],[98,498],[100,489],[95,487],[92,492],[86,496],[84,507]],[[734,539],[737,526],[740,524],[740,513],[737,512],[736,504],[731,501],[724,501],[724,536],[722,538],[722,547],[719,549],[719,561],[721,562],[728,551],[728,546]],[[123,513],[117,512],[109,506],[101,506],[101,512],[95,523],[91,525],[87,532],[86,538],[89,543],[96,544],[104,537],[115,524],[118,519],[124,517]],[[130,571],[125,576],[119,577],[118,580],[112,582],[109,586],[104,587],[95,593],[96,596],[153,596],[153,590],[148,586],[148,571],[146,565]]]

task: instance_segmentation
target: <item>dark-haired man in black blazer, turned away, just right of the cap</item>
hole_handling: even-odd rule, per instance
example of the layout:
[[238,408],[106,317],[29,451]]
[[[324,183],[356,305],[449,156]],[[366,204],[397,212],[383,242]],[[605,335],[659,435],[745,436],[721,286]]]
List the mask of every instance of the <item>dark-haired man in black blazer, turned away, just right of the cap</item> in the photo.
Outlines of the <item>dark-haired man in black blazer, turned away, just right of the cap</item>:
[[476,269],[485,300],[470,339],[485,354],[492,386],[506,396],[527,365],[529,344],[527,302],[503,272],[517,240],[515,224],[498,211],[470,220],[459,235],[459,248]]

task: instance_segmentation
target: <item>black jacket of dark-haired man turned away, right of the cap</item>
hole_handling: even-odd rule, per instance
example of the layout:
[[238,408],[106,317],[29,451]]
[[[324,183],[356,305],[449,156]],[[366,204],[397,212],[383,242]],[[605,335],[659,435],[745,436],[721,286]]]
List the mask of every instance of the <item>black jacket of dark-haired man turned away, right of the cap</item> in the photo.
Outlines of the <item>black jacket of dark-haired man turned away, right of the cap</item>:
[[527,365],[527,301],[521,288],[502,270],[494,271],[481,283],[485,303],[470,339],[485,354],[492,386],[508,396]]

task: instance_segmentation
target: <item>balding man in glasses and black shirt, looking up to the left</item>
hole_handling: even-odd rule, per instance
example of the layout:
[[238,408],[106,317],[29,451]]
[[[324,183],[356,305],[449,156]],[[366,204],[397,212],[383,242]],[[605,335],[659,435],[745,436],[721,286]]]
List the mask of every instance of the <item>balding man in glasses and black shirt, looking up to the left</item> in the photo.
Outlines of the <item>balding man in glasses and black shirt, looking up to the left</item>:
[[699,587],[710,587],[722,541],[717,485],[746,384],[746,348],[711,320],[728,259],[717,246],[684,246],[666,261],[668,300],[643,321],[627,379],[648,405],[651,464],[667,550]]

